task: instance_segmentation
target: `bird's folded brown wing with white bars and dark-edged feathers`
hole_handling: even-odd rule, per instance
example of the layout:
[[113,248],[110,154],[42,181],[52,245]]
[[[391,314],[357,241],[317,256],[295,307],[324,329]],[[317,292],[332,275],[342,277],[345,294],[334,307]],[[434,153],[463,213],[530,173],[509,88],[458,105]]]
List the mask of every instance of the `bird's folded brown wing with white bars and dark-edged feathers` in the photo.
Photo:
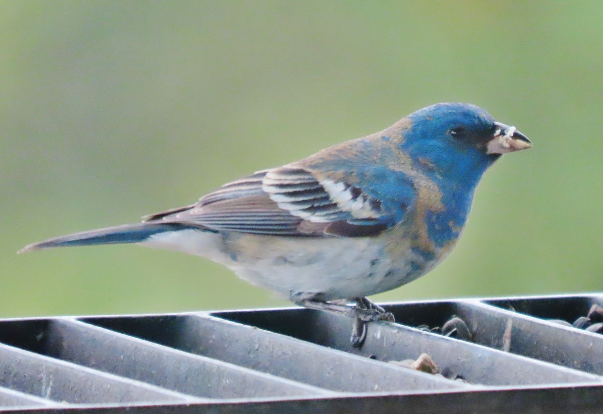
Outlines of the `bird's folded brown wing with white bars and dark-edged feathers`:
[[390,225],[375,209],[380,202],[371,201],[345,183],[321,183],[305,169],[282,167],[256,172],[225,184],[197,204],[145,220],[274,236],[358,237]]

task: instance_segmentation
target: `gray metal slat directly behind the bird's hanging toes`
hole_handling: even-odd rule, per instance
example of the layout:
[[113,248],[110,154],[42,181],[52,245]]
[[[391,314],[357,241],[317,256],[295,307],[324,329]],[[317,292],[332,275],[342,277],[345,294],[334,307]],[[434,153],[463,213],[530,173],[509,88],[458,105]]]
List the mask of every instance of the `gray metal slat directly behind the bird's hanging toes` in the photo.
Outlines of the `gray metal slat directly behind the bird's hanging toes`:
[[[395,309],[388,307],[388,310]],[[312,313],[312,315],[308,315]],[[592,383],[601,377],[543,363],[474,343],[386,322],[373,322],[360,350],[350,349],[352,321],[307,309],[219,313],[221,317],[267,330],[294,334],[324,347],[348,350],[381,361],[416,359],[429,354],[447,377],[474,384]]]

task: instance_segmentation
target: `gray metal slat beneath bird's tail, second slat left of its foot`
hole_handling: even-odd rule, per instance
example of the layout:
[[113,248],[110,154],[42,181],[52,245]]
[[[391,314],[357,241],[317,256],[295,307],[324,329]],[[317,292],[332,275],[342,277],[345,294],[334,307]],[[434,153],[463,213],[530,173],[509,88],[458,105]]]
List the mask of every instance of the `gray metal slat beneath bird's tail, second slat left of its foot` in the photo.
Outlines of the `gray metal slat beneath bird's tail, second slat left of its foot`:
[[332,395],[262,372],[163,347],[74,319],[55,319],[45,354],[100,371],[206,398]]

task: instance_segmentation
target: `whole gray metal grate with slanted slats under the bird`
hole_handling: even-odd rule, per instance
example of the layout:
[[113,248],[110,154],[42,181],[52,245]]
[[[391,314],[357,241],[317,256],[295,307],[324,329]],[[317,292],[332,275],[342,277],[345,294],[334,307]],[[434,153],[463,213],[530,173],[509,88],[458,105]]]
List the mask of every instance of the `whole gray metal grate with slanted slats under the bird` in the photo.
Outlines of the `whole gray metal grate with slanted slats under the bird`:
[[[0,411],[600,412],[603,336],[550,321],[593,304],[603,293],[386,304],[397,323],[370,324],[360,350],[350,319],[308,309],[2,319]],[[425,330],[453,316],[470,342]],[[444,375],[388,363],[423,353]]]

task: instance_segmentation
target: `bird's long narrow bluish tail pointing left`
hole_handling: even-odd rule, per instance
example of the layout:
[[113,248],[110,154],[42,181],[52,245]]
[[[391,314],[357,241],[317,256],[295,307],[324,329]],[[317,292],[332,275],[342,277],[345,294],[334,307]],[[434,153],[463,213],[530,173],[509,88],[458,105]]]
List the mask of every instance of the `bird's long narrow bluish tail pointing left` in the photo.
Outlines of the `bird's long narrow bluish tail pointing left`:
[[19,250],[19,253],[51,247],[139,243],[144,242],[144,240],[147,240],[153,234],[163,233],[164,231],[185,230],[187,228],[193,227],[180,223],[137,223],[98,228],[96,230],[82,231],[33,243]]

